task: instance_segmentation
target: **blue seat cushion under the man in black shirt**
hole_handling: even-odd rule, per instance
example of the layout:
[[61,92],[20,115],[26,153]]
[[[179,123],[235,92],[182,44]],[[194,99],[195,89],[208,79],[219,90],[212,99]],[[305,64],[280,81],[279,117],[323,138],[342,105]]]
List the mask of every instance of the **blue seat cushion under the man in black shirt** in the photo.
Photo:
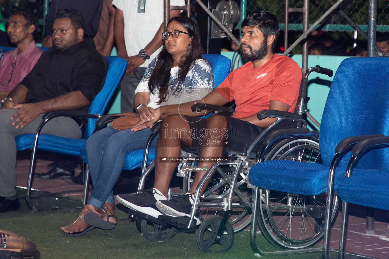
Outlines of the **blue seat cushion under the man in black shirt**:
[[[16,149],[25,150],[32,148],[35,134],[23,134],[15,137]],[[40,134],[38,149],[66,155],[80,155],[80,148],[86,143],[86,139],[69,139],[53,135]]]

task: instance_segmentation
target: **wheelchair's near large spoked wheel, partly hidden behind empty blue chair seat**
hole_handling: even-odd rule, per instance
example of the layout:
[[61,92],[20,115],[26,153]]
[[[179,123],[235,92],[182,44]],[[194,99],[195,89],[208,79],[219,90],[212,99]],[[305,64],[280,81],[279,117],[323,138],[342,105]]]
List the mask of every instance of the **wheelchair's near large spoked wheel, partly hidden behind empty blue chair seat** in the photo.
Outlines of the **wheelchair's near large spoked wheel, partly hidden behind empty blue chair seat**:
[[[277,144],[265,160],[295,160],[321,163],[317,139],[286,139]],[[280,249],[299,249],[317,243],[324,234],[326,193],[299,195],[269,189],[260,190],[259,228],[266,239]],[[338,209],[336,194],[332,219]]]

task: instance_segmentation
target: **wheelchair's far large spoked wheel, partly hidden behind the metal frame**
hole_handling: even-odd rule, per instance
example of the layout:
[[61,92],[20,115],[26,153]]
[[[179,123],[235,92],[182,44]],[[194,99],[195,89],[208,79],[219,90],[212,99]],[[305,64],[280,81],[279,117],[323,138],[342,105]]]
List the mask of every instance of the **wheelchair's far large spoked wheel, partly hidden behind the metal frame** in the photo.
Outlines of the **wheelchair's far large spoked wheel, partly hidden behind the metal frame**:
[[[200,202],[223,203],[223,198],[228,197],[228,192],[230,191],[229,182],[231,182],[234,172],[235,167],[225,166],[217,168],[202,197],[200,197]],[[234,232],[246,229],[251,223],[252,189],[247,188],[245,176],[246,174],[243,172],[238,176],[232,210],[228,219]],[[220,207],[198,208],[199,218],[202,221],[219,216],[221,211],[222,208]]]

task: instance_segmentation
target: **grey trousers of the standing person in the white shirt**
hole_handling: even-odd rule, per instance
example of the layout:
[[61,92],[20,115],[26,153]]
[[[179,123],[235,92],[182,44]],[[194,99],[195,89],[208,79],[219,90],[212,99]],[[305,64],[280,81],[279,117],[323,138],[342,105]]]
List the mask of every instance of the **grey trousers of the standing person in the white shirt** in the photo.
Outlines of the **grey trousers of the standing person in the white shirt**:
[[146,71],[146,68],[135,68],[133,74],[124,74],[121,80],[121,96],[120,96],[120,112],[135,112],[134,110],[134,97],[135,89],[142,80],[142,77]]

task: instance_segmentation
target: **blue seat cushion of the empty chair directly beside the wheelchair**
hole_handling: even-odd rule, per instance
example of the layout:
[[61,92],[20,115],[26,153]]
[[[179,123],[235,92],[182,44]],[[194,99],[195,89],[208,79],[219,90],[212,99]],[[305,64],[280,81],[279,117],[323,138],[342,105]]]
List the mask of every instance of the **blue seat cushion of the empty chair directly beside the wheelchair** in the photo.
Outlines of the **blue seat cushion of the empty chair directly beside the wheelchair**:
[[[344,178],[345,168],[335,171],[334,190]],[[290,160],[269,160],[254,165],[249,172],[254,186],[303,195],[318,195],[327,190],[329,166]]]

